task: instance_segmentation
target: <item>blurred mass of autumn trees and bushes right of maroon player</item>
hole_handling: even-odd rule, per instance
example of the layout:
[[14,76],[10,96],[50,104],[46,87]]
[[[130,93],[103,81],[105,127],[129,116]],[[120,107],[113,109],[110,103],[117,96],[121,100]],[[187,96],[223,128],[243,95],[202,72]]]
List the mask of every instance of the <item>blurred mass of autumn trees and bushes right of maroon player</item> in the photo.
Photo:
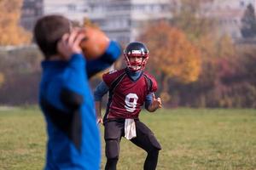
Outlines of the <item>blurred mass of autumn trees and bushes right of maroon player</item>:
[[[201,14],[207,1],[181,2],[172,20],[149,24],[138,38],[148,44],[148,71],[161,82],[165,105],[256,108],[255,41],[236,44],[228,35],[219,35],[218,20]],[[253,37],[255,21],[249,5],[241,34]]]

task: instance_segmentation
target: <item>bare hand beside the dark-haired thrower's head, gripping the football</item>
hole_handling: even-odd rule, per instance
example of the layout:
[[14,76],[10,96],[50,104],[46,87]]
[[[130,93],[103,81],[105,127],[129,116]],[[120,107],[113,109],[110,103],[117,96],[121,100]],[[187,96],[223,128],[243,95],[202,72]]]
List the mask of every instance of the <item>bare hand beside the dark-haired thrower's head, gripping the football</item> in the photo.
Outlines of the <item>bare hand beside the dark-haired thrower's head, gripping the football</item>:
[[68,60],[72,54],[82,53],[79,44],[84,37],[84,33],[81,33],[78,29],[74,29],[70,34],[64,34],[57,44],[62,59]]

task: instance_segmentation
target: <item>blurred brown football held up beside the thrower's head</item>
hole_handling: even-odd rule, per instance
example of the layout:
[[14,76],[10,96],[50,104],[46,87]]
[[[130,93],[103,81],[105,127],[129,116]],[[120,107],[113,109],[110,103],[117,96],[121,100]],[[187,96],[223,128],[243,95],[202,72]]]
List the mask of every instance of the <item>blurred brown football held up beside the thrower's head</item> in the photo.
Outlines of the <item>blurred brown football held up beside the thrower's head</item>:
[[110,40],[103,31],[94,27],[86,27],[81,30],[81,33],[85,34],[80,47],[86,59],[96,59],[104,54]]

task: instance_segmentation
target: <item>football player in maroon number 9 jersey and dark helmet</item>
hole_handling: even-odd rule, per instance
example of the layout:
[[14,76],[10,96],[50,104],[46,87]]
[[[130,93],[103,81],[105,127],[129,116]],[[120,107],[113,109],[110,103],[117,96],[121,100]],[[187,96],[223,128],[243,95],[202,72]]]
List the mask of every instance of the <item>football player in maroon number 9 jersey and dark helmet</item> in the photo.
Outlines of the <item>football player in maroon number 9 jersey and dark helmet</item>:
[[[131,42],[125,48],[124,55],[127,67],[104,74],[103,81],[94,92],[97,122],[103,123],[105,127],[105,169],[116,169],[121,137],[130,139],[133,144],[147,151],[144,169],[155,169],[161,146],[154,133],[138,118],[144,104],[150,112],[161,107],[160,98],[154,97],[157,82],[143,71],[148,60],[148,48],[142,42]],[[101,100],[108,92],[107,110],[102,119]]]

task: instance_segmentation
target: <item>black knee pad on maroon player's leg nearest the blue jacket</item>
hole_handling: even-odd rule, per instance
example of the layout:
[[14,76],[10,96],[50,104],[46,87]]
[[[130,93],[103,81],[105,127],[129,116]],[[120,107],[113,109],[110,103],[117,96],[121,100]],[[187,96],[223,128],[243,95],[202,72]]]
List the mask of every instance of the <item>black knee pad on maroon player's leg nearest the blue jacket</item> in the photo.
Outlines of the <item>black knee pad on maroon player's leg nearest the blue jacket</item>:
[[108,159],[119,158],[119,142],[117,139],[106,140],[106,156]]

